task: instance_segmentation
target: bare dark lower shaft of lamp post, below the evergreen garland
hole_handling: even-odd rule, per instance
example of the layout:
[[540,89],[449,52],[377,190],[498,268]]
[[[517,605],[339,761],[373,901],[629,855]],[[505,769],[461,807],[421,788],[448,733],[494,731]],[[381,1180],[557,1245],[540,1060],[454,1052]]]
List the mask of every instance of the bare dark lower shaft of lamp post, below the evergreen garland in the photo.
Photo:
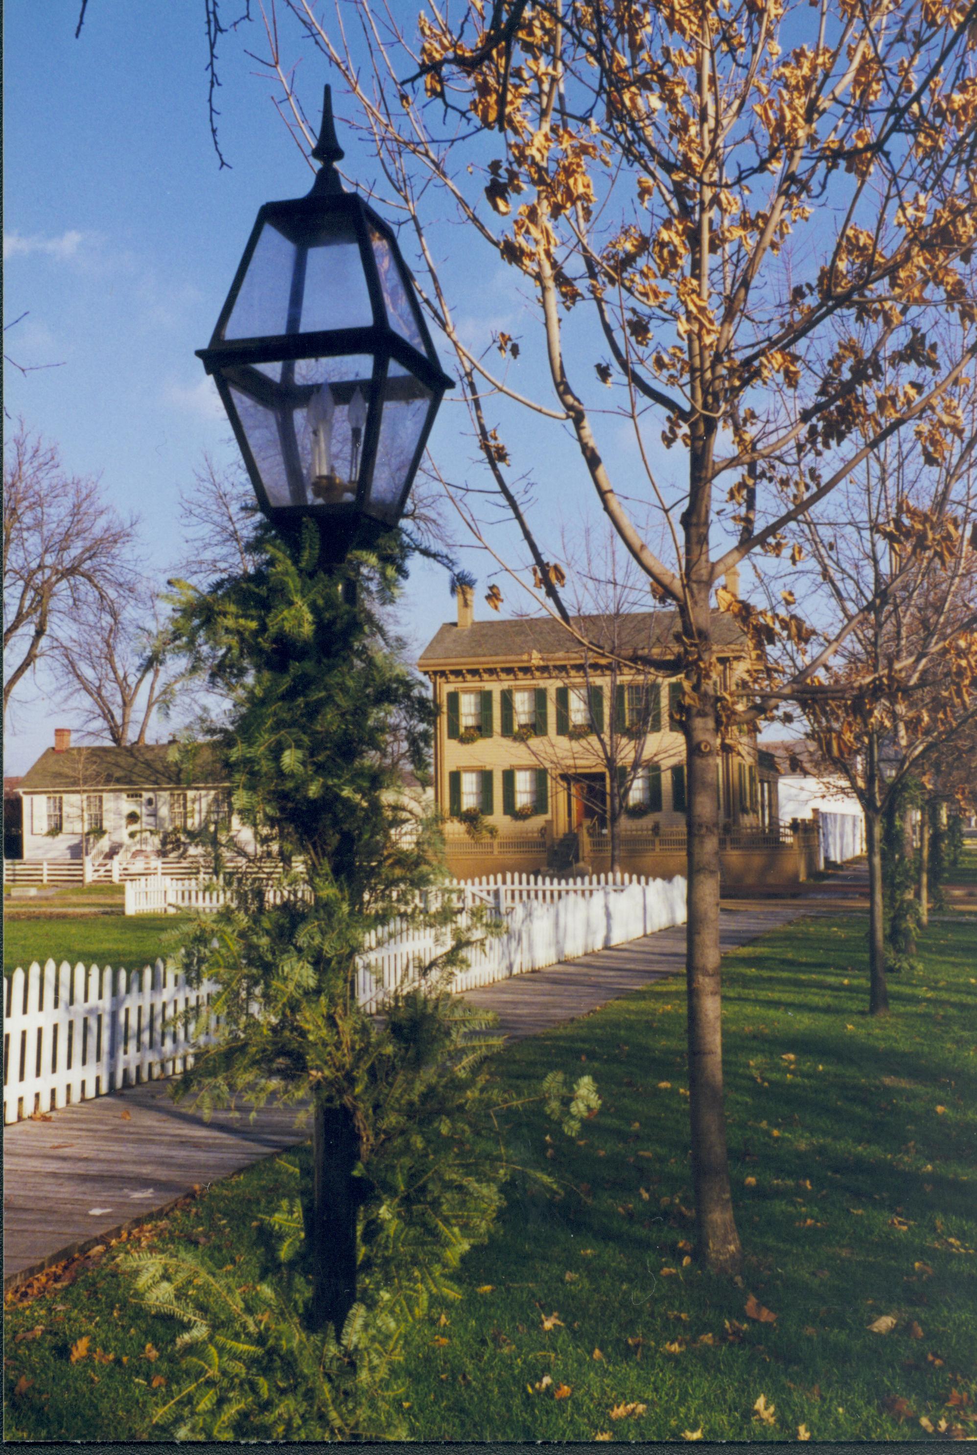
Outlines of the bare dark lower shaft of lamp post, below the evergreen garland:
[[336,1337],[356,1302],[356,1187],[359,1144],[345,1106],[313,1110],[313,1200],[305,1235],[313,1269],[313,1328],[331,1324]]

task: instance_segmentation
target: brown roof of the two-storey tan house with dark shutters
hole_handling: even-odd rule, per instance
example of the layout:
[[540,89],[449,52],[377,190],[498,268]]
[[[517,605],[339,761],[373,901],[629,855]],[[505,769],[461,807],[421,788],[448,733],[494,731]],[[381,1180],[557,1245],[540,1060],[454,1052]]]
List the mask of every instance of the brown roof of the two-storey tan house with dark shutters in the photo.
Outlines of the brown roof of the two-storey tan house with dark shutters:
[[[676,611],[631,611],[625,615],[571,617],[598,652],[618,656],[662,656],[676,650],[679,615]],[[743,646],[746,639],[724,611],[712,613],[715,645]],[[512,617],[502,621],[473,621],[459,627],[445,621],[420,655],[422,672],[441,666],[467,666],[478,662],[525,661],[534,655],[548,662],[580,662],[582,643],[554,617]]]

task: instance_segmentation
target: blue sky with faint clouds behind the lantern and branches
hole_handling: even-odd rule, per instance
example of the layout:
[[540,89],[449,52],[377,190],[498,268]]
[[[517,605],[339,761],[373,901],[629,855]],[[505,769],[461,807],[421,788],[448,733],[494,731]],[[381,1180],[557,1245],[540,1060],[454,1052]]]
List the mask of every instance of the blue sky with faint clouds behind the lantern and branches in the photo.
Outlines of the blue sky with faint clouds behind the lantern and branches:
[[[89,0],[80,39],[77,9],[79,0],[6,4],[4,303],[7,322],[26,317],[4,343],[22,365],[61,365],[26,375],[7,370],[6,407],[58,444],[65,470],[100,476],[106,495],[140,515],[142,551],[163,582],[182,554],[177,498],[202,453],[218,463],[237,455],[193,351],[209,339],[257,208],[304,194],[311,173],[272,103],[272,84],[246,54],[262,48],[260,25],[224,39],[220,127],[231,167],[221,170],[208,128],[202,0]],[[230,19],[227,4],[222,16]],[[323,81],[334,77],[294,35],[288,47],[304,105],[315,113]],[[340,118],[346,105],[340,89]],[[369,182],[377,163],[350,144],[342,121],[340,138],[347,172]],[[531,300],[519,298],[513,274],[484,252],[473,266],[457,223],[432,237],[448,259],[457,324],[470,346],[490,348],[499,329],[522,336],[520,308]],[[580,374],[606,407],[592,368],[602,352],[583,320],[574,326],[584,329]],[[509,367],[493,358],[494,368]],[[451,367],[446,355],[445,362]],[[518,388],[552,403],[532,333],[510,367]],[[516,406],[490,407],[504,425],[513,477],[534,485],[548,554],[560,559],[563,534],[580,537],[600,518],[580,455],[566,426]],[[593,418],[627,483],[638,463],[631,426],[614,415]],[[467,429],[462,410],[445,403],[430,448],[452,480],[475,482]],[[496,519],[493,543],[512,559],[512,528]],[[484,589],[493,563],[470,546],[458,557]],[[504,581],[503,589],[506,611],[526,610],[528,599],[518,601]],[[487,614],[481,604],[478,611]],[[419,562],[401,607],[413,649],[452,614],[445,573]],[[7,773],[25,771],[55,723],[73,722],[48,687],[39,674],[15,706]]]

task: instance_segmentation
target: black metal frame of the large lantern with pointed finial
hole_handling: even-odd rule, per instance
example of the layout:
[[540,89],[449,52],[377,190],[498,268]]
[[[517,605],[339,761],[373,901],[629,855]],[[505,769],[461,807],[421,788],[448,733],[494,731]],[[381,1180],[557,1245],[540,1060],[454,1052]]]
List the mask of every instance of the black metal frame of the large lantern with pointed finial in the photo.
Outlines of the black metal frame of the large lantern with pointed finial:
[[[382,531],[390,530],[401,518],[407,505],[407,496],[413,485],[417,467],[425,453],[430,429],[441,406],[446,388],[454,387],[454,380],[445,374],[438,361],[430,332],[423,313],[417,304],[410,274],[397,244],[394,230],[379,217],[368,202],[353,192],[345,192],[334,170],[334,163],[343,156],[333,129],[330,87],[326,86],[323,103],[323,127],[318,144],[313,157],[323,163],[313,189],[307,196],[291,198],[279,202],[266,202],[257,214],[254,227],[238,263],[230,292],[217,320],[209,346],[198,349],[196,355],[204,368],[212,377],[221,396],[224,409],[234,429],[241,457],[247,467],[257,503],[263,514],[278,527],[288,528],[302,518],[317,518],[329,522],[330,535],[339,550],[346,550],[355,541],[369,541]],[[310,244],[302,242],[314,236],[321,236],[339,228],[352,233],[359,252],[359,263],[366,282],[366,292],[372,311],[372,323],[361,327],[318,329],[305,333],[275,333],[252,338],[227,339],[224,336],[234,313],[234,307],[244,287],[249,268],[265,228],[270,226],[288,239],[297,249],[292,263],[292,279],[289,285],[288,317],[301,322],[301,308],[305,288],[305,260]],[[371,228],[379,234],[387,247],[397,278],[403,290],[404,300],[414,320],[417,335],[423,345],[416,348],[410,339],[398,332],[390,319],[390,308],[384,297],[381,271],[374,246]],[[359,445],[356,493],[353,499],[320,502],[310,501],[307,486],[302,480],[301,461],[298,458],[298,441],[295,435],[294,410],[302,407],[295,403],[291,409],[281,409],[281,397],[291,388],[297,400],[299,396],[311,396],[315,386],[276,383],[256,365],[281,362],[298,362],[301,359],[342,358],[343,355],[371,355],[372,375],[369,380],[369,397],[366,400],[366,423],[362,442]],[[379,439],[384,409],[395,397],[395,384],[391,393],[390,364],[395,361],[404,371],[404,388],[410,388],[409,380],[413,375],[430,394],[426,406],[423,426],[417,436],[417,444],[410,464],[400,483],[400,493],[394,503],[385,509],[371,508],[371,490],[374,483],[374,467],[377,464],[377,447]],[[394,375],[395,378],[397,375]],[[275,503],[263,479],[259,461],[254,457],[240,412],[231,396],[231,387],[237,386],[256,403],[276,412],[279,444],[282,461],[288,479],[289,503]],[[289,429],[284,429],[279,415],[291,415]],[[289,439],[291,434],[291,439]],[[297,480],[302,480],[301,492]],[[297,498],[299,496],[301,498]]]

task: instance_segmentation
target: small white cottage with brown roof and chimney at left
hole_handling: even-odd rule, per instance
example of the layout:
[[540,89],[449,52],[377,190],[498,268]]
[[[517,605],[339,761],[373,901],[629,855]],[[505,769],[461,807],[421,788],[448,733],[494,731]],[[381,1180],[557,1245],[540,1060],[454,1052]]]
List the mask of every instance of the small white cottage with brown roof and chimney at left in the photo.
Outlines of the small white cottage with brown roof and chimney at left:
[[230,822],[227,778],[208,744],[73,748],[70,729],[57,728],[54,748],[17,789],[25,863],[166,856],[185,829]]

